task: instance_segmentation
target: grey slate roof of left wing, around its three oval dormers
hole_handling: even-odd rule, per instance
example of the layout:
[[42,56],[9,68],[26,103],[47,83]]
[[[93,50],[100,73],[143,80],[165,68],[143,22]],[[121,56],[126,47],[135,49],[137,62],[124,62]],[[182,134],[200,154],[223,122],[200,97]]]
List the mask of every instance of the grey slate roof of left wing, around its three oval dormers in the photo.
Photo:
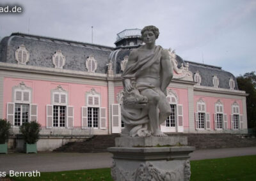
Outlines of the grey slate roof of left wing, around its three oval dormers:
[[27,65],[54,68],[52,55],[61,50],[66,59],[63,69],[86,71],[85,61],[88,56],[93,55],[98,63],[95,73],[106,73],[108,57],[113,50],[113,47],[102,45],[13,33],[1,41],[0,61],[17,64],[15,51],[22,44],[29,52]]

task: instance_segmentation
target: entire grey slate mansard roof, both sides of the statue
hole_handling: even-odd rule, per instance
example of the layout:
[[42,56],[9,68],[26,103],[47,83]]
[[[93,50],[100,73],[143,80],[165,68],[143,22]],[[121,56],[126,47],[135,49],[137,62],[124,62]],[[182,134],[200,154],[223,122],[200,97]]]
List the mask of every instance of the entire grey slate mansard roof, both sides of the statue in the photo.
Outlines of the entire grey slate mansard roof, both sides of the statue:
[[[15,51],[20,45],[24,45],[29,52],[29,61],[26,63],[30,66],[40,66],[45,68],[54,68],[52,63],[52,55],[57,50],[61,50],[65,56],[66,63],[63,69],[74,71],[87,71],[85,61],[88,56],[93,55],[97,61],[98,67],[95,73],[106,73],[109,61],[113,63],[113,71],[115,74],[122,73],[121,62],[124,57],[129,55],[133,48],[140,47],[107,47],[104,45],[95,45],[91,43],[82,43],[77,41],[61,40],[44,36],[35,36],[31,34],[13,33],[1,40],[0,43],[0,62],[17,64],[15,60]],[[189,71],[193,75],[198,72],[202,78],[201,85],[212,87],[212,76],[218,76],[220,80],[220,88],[230,89],[229,80],[235,80],[235,89],[237,88],[236,77],[218,66],[210,66],[197,62],[184,61],[177,55],[178,68],[181,64],[189,63]]]

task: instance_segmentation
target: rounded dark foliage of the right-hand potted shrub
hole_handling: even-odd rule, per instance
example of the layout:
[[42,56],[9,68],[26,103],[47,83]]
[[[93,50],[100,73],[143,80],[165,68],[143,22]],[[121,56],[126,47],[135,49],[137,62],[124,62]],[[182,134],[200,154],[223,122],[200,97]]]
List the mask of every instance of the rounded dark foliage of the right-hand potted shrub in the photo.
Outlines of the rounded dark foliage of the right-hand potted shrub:
[[25,122],[20,126],[20,133],[28,144],[35,144],[38,141],[40,130],[41,125],[35,121]]

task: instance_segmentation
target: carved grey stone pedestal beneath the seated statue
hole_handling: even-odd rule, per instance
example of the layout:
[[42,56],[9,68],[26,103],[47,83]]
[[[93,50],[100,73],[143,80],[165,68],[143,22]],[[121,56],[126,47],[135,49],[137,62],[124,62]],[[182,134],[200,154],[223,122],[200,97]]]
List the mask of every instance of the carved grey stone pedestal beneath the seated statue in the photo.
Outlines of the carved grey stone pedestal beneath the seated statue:
[[[193,152],[195,147],[186,146],[186,137],[173,137],[176,136],[116,138],[116,147],[108,148],[113,154],[112,178],[118,181],[189,180],[189,153]],[[182,145],[180,140],[186,145]],[[125,143],[129,147],[124,147]]]

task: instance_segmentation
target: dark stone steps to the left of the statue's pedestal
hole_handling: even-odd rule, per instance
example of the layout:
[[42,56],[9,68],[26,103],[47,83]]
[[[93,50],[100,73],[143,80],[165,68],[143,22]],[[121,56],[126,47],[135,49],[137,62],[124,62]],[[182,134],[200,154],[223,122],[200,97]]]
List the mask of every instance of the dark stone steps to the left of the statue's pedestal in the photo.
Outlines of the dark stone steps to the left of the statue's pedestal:
[[69,142],[52,152],[108,152],[108,147],[115,147],[115,138],[120,134],[95,135],[84,141]]

